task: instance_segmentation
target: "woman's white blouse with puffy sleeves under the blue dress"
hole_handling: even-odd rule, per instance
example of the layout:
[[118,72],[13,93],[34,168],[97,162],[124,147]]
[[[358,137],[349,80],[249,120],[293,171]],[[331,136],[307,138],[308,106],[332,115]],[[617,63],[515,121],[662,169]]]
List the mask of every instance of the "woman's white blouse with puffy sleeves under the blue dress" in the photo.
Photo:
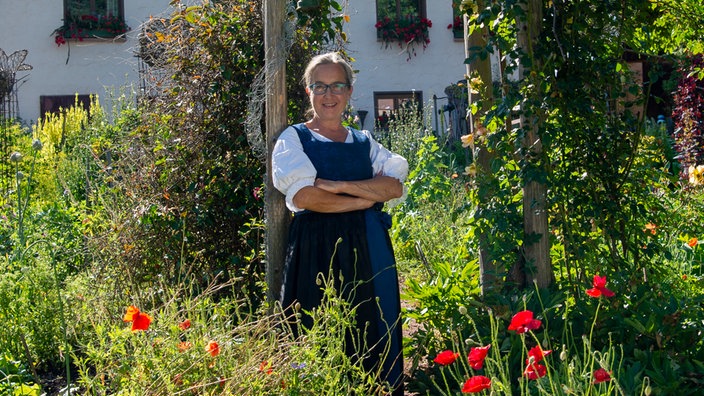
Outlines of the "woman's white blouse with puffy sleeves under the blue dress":
[[[372,137],[369,131],[361,131],[369,138],[371,149],[369,158],[372,160],[372,168],[375,175],[381,174],[398,179],[401,183],[408,176],[408,161],[402,156],[392,153],[379,144]],[[325,136],[310,131],[313,138],[331,142]],[[352,132],[347,128],[347,139],[345,143],[353,143]],[[315,183],[317,172],[313,163],[303,151],[303,145],[298,138],[296,130],[289,126],[279,136],[271,154],[272,179],[274,187],[286,196],[286,207],[292,212],[300,212],[302,209],[293,204],[293,197],[303,187],[312,186]],[[403,201],[406,196],[406,186],[403,188],[404,196],[400,200],[394,200],[396,204]]]

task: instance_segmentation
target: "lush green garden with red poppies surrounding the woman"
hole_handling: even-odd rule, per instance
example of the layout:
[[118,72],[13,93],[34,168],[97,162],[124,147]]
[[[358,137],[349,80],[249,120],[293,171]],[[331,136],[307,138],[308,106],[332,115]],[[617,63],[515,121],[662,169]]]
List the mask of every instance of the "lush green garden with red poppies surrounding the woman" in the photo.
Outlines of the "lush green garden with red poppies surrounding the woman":
[[[321,2],[294,28],[290,120],[308,56],[344,52],[343,8]],[[642,3],[545,3],[536,31],[522,2],[462,2],[472,132],[433,130],[426,104],[377,132],[410,165],[388,208],[406,394],[701,393],[704,48],[696,24],[667,28],[704,10]],[[0,394],[384,394],[344,352],[355,307],[334,282],[299,336],[267,299],[264,124],[243,94],[261,5],[164,20],[159,94],[1,120]]]

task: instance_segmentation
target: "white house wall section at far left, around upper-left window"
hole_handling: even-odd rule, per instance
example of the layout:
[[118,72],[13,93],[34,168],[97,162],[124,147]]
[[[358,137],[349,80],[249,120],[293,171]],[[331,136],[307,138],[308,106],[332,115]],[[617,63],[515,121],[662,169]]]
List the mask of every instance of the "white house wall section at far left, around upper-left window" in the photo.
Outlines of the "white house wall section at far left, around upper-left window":
[[[132,28],[126,40],[70,41],[60,47],[54,29],[62,24],[61,0],[0,0],[0,49],[7,55],[26,49],[32,70],[18,89],[19,117],[28,124],[39,118],[41,95],[98,94],[109,106],[112,93],[126,84],[137,89],[139,26],[150,15],[162,16],[169,0],[125,0],[125,21]],[[69,55],[70,49],[70,55]],[[66,60],[68,59],[68,63]]]

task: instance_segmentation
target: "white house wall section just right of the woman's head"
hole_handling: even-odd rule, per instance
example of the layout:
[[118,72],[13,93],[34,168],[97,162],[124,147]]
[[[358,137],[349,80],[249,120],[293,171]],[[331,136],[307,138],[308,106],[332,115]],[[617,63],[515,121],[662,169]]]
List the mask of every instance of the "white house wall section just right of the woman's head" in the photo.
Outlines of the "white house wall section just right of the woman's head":
[[[452,23],[452,0],[426,0],[430,28],[430,43],[423,50],[417,46],[416,56],[408,59],[397,45],[385,48],[377,39],[376,1],[350,0],[345,24],[349,54],[355,58],[352,65],[358,70],[351,104],[355,110],[369,112],[364,123],[372,129],[374,92],[413,91],[423,93],[424,104],[432,104],[433,95],[445,97],[445,87],[464,78],[464,42],[453,38],[447,25]],[[446,102],[438,100],[442,105]],[[436,115],[436,114],[435,114]],[[434,115],[434,116],[435,116]],[[435,119],[433,117],[433,125]]]

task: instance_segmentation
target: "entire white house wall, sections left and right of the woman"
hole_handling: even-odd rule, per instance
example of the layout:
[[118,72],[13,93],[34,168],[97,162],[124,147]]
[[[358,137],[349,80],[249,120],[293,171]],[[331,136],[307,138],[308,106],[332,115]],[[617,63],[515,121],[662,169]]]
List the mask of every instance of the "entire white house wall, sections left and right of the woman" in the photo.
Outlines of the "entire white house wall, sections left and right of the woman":
[[[188,3],[194,3],[189,1]],[[375,0],[349,0],[345,24],[348,51],[356,59],[357,81],[352,97],[356,110],[367,110],[365,127],[373,128],[374,92],[422,92],[424,104],[433,95],[445,97],[444,89],[463,78],[464,44],[453,38],[451,0],[426,0],[430,44],[407,58],[397,46],[384,48],[377,40]],[[98,94],[103,106],[119,88],[137,89],[138,62],[134,56],[141,23],[150,15],[169,14],[169,0],[124,0],[125,20],[132,28],[126,40],[70,41],[57,46],[52,32],[62,23],[61,0],[0,0],[0,49],[6,54],[27,49],[24,63],[31,71],[19,72],[19,116],[26,123],[40,117],[41,95]],[[69,53],[70,50],[70,53]],[[68,63],[67,63],[68,59]],[[439,105],[445,101],[440,99]],[[435,120],[433,119],[433,125]]]

